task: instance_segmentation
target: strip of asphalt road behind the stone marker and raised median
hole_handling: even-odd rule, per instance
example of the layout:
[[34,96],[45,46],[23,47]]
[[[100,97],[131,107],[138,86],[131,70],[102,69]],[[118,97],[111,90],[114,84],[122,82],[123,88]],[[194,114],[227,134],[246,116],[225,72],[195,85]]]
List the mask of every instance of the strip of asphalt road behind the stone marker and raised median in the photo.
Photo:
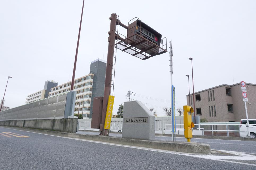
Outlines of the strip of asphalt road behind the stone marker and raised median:
[[[98,135],[99,132],[79,132],[81,134],[92,134]],[[114,137],[122,137],[122,134],[109,134]],[[156,140],[161,141],[172,141],[172,137],[166,136],[156,136]],[[176,141],[184,141],[187,140],[184,137],[176,137]],[[246,152],[246,153],[255,153],[256,154],[256,142],[255,141],[239,141],[239,140],[222,140],[222,139],[199,139],[192,138],[191,142],[198,142],[209,144],[211,149],[216,150],[228,150],[228,151],[238,151],[238,152]]]

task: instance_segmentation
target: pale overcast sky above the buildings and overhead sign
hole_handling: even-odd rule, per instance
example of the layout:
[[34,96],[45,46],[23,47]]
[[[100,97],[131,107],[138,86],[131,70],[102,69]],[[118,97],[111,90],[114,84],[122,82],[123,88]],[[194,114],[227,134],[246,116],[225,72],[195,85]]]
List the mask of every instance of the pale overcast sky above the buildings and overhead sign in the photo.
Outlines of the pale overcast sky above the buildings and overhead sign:
[[[129,3],[128,3],[129,2]],[[107,56],[111,13],[122,23],[138,17],[173,47],[176,108],[186,104],[193,58],[194,90],[242,80],[256,84],[256,1],[86,1],[76,78],[89,74],[90,62]],[[25,104],[27,95],[46,80],[72,79],[83,1],[0,1],[0,98],[9,79],[5,106]],[[168,44],[168,43],[167,43]],[[168,44],[169,45],[169,44]],[[168,48],[169,50],[169,48]],[[114,114],[125,93],[170,100],[169,53],[145,61],[117,51]],[[250,94],[248,94],[250,95]],[[131,96],[154,107],[160,116],[169,102]]]

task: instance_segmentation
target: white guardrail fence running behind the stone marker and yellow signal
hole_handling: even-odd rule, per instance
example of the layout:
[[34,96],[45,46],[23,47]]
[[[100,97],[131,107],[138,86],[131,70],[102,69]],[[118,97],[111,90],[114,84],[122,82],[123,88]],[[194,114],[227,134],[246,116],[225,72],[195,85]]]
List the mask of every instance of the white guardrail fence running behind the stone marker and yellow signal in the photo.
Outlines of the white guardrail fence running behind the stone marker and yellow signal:
[[[182,119],[181,119],[182,118]],[[99,131],[99,129],[92,129],[91,128],[91,121],[92,119],[79,119],[79,130],[93,130]],[[172,132],[172,124],[170,116],[158,116],[155,120],[155,133],[156,134],[171,134]],[[184,124],[183,123],[183,116],[176,116],[176,134],[184,135]],[[205,131],[212,132],[212,136],[214,136],[214,132],[226,132],[227,136],[229,136],[229,132],[237,133],[239,132],[247,132],[240,131],[241,125],[239,122],[210,122],[210,123],[198,123],[196,129],[193,129],[193,135],[204,135]],[[252,125],[252,124],[250,124]],[[253,124],[256,125],[256,124]],[[255,127],[256,128],[256,127]],[[112,132],[122,132],[123,129],[123,118],[112,118],[110,124],[110,131]],[[256,132],[251,131],[250,132]],[[209,134],[208,134],[209,135]]]

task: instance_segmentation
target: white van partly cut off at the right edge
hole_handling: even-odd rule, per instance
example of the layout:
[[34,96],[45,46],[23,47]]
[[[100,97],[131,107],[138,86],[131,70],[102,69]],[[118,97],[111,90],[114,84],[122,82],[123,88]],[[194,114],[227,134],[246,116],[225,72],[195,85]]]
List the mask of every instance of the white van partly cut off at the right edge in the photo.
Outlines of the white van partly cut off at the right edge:
[[[256,119],[248,119],[249,120],[249,131],[250,131],[250,135],[251,137],[256,138]],[[246,127],[246,123],[247,123],[247,119],[241,119],[241,126],[240,126],[240,131],[245,131],[245,132],[239,132],[240,137],[247,137],[247,127]],[[250,124],[254,124],[254,125],[250,125]]]

